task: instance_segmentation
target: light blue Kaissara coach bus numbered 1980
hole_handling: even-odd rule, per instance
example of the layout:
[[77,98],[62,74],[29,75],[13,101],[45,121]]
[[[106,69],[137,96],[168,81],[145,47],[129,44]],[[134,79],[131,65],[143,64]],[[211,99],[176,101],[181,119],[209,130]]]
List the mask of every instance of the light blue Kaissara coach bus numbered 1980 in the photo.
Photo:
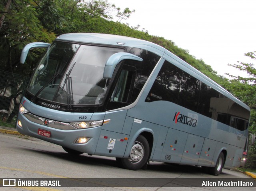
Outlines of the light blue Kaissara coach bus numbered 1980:
[[239,167],[250,108],[165,48],[110,34],[63,34],[46,48],[20,104],[18,132],[72,154]]

